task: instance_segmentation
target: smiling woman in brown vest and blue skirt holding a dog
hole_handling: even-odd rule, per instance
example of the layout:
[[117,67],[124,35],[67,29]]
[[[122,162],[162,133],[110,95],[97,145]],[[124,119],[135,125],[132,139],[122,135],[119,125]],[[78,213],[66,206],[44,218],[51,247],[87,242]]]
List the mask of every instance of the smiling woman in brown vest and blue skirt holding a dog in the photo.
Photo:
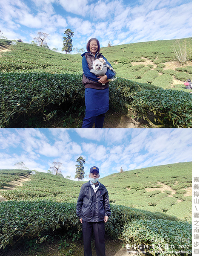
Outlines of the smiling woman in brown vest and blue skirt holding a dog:
[[[83,84],[85,85],[86,116],[83,119],[82,128],[103,128],[105,113],[109,110],[109,81],[115,74],[107,70],[104,76],[96,76],[90,72],[93,61],[105,57],[100,53],[100,43],[96,38],[91,38],[86,46],[87,52],[83,57]],[[110,65],[111,66],[111,65]],[[104,85],[103,85],[104,84]]]

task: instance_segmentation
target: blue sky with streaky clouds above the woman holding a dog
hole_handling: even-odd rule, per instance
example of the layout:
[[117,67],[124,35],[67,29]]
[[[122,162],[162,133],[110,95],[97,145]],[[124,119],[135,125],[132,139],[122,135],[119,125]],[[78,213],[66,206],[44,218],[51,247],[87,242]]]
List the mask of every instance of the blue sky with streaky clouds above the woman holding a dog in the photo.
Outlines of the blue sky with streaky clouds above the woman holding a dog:
[[[89,38],[100,46],[192,36],[191,0],[0,0],[0,30],[8,39],[31,43],[37,32],[49,34],[49,47],[61,52],[66,29],[73,47]],[[64,53],[64,52],[63,52]]]

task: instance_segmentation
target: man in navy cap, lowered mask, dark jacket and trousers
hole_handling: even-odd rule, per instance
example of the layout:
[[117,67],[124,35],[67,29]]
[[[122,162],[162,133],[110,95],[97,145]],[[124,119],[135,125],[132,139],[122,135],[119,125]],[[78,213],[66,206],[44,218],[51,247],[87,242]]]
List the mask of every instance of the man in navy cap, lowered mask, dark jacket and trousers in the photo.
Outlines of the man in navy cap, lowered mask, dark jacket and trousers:
[[109,195],[106,187],[99,179],[99,168],[90,168],[90,180],[83,184],[77,200],[77,216],[83,224],[84,256],[92,256],[91,236],[95,237],[97,256],[106,256],[105,253],[105,224],[111,215]]

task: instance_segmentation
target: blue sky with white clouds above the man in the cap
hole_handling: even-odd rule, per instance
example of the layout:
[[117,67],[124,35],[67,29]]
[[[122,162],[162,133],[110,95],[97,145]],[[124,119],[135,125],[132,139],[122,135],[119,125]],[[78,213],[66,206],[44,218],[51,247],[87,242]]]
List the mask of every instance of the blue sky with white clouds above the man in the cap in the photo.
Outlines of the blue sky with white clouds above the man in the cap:
[[192,160],[190,128],[2,128],[0,169],[14,169],[23,161],[47,172],[54,161],[63,163],[62,174],[74,179],[78,157],[86,159],[100,177],[123,170],[140,169]]

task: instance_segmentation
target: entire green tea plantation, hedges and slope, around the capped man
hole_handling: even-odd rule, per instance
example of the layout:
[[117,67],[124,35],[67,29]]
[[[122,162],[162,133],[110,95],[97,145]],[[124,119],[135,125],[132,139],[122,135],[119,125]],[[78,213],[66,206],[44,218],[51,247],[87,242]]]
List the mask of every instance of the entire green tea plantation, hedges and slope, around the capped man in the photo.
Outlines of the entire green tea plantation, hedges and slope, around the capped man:
[[[150,255],[172,256],[172,246],[178,256],[191,254],[191,174],[191,162],[187,162],[100,179],[111,202],[106,236],[133,244],[139,254],[141,245]],[[27,175],[29,181],[23,186],[4,189]],[[19,246],[40,248],[55,237],[61,247],[76,248],[82,239],[76,201],[85,182],[37,171],[0,170],[0,183],[0,195],[7,199],[0,203],[0,255]],[[181,248],[185,253],[178,252]]]

